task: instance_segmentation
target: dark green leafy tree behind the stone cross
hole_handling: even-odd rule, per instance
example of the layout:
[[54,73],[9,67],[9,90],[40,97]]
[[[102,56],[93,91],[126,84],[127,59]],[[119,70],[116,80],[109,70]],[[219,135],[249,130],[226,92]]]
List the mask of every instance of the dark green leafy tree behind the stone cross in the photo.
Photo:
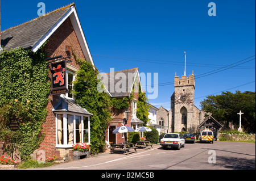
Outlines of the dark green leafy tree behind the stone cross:
[[255,133],[255,92],[236,91],[222,92],[221,95],[210,95],[201,102],[201,107],[207,112],[211,112],[213,117],[228,127],[229,122],[239,125],[240,110],[242,115],[242,126],[247,132]]

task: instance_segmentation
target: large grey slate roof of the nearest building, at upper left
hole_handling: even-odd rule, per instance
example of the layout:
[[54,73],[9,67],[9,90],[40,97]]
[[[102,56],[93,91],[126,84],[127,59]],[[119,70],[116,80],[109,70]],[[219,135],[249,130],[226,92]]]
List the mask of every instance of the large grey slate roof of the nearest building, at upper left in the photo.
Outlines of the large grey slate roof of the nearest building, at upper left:
[[59,19],[71,8],[71,5],[62,7],[44,16],[32,19],[19,26],[2,31],[1,45],[7,51],[18,47],[32,48]]

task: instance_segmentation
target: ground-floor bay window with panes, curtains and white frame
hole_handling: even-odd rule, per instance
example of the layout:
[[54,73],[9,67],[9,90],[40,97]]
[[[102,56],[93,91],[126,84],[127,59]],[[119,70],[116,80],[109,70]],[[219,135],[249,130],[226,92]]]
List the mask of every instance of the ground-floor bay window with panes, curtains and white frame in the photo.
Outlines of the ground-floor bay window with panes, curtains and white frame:
[[56,116],[56,145],[61,148],[72,147],[79,142],[90,142],[89,117],[67,113]]

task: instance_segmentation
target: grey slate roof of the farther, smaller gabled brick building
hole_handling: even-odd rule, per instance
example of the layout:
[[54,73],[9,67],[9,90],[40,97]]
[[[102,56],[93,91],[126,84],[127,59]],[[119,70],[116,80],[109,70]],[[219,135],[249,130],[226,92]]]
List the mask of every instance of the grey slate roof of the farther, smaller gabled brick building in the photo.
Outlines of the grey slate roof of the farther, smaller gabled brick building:
[[[134,85],[134,80],[137,77],[137,75],[139,76],[138,73],[138,68],[135,69],[129,69],[129,70],[122,70],[122,71],[115,71],[113,73],[106,73],[106,75],[108,75],[108,79],[103,79],[102,81],[105,84],[105,87],[108,87],[108,91],[110,93],[110,95],[112,95],[112,97],[125,97],[125,96],[129,96],[133,85]],[[118,76],[118,73],[123,73],[122,75],[125,75],[125,79],[120,78]],[[135,75],[132,77],[132,75]],[[130,76],[130,79],[129,79]],[[113,89],[117,83],[120,83],[119,81],[125,81],[126,84],[126,90],[122,90],[121,92],[117,91],[116,89]],[[112,85],[111,82],[114,82],[114,87]],[[121,86],[121,85],[119,85]],[[120,89],[122,88],[122,86],[120,87]],[[113,91],[114,90],[114,91]]]

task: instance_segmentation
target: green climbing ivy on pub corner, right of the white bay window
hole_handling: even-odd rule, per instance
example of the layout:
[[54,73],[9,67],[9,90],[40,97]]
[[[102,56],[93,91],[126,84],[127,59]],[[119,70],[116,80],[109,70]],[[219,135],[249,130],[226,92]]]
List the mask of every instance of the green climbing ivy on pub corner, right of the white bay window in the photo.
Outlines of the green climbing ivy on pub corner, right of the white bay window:
[[[90,118],[91,153],[97,154],[105,149],[105,132],[111,120],[110,96],[98,92],[98,70],[92,64],[80,60],[80,70],[74,81],[73,94],[77,104],[93,114]],[[102,87],[103,88],[103,87]]]

